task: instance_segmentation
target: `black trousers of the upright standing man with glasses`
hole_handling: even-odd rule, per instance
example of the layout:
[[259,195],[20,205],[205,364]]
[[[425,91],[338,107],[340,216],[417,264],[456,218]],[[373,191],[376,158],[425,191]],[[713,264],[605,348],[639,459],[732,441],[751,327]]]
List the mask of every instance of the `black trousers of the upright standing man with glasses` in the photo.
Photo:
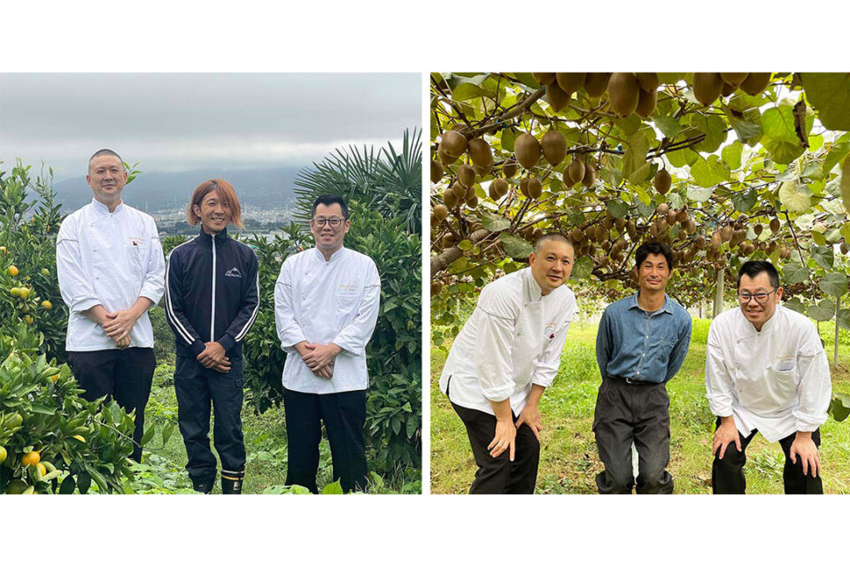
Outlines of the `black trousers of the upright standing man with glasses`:
[[286,414],[287,486],[304,486],[319,493],[321,423],[325,424],[334,465],[334,481],[343,491],[366,491],[366,390],[335,394],[300,393],[283,388]]

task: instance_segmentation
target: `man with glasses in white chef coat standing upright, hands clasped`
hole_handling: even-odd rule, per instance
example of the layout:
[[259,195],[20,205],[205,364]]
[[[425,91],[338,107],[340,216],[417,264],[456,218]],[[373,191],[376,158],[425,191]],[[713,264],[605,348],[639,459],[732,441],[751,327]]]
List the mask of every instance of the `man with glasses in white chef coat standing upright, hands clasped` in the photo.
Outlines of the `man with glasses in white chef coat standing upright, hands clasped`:
[[286,484],[317,493],[321,422],[334,479],[345,492],[366,489],[366,345],[381,299],[375,262],[343,245],[351,226],[336,195],[313,203],[316,247],[289,256],[274,286],[274,318],[283,366],[288,467]]

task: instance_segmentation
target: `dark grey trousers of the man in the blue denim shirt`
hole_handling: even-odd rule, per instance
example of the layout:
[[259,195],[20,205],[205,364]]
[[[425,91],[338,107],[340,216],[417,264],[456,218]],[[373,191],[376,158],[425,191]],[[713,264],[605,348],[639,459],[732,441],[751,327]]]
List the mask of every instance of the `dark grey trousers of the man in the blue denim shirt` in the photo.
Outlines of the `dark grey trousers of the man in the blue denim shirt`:
[[[596,477],[599,493],[673,493],[670,461],[670,398],[664,384],[630,384],[607,378],[599,386],[593,432],[605,470]],[[631,444],[638,449],[634,478]]]

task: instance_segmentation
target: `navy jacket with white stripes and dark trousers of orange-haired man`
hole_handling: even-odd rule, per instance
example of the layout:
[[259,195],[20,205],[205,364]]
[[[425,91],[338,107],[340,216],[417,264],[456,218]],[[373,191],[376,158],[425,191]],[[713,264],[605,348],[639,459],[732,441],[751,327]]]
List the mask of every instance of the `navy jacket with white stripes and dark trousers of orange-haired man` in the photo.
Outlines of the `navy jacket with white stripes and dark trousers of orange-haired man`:
[[[209,447],[211,402],[222,477],[242,477],[242,340],[258,311],[257,256],[229,238],[227,230],[214,238],[201,230],[194,240],[168,255],[166,320],[174,331],[178,423],[193,481],[215,477],[215,456]],[[207,370],[197,361],[205,342],[211,341],[226,350],[231,363],[228,373]]]

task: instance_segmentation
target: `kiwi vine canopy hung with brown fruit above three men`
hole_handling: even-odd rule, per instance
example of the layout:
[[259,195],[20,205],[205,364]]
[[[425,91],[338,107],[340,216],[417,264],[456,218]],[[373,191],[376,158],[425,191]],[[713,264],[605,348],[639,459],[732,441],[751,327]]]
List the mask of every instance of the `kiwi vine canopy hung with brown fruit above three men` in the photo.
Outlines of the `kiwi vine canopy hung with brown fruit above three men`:
[[430,91],[437,342],[545,232],[574,242],[583,302],[637,288],[655,240],[685,306],[722,309],[725,279],[769,259],[787,307],[850,328],[850,73],[432,73]]

